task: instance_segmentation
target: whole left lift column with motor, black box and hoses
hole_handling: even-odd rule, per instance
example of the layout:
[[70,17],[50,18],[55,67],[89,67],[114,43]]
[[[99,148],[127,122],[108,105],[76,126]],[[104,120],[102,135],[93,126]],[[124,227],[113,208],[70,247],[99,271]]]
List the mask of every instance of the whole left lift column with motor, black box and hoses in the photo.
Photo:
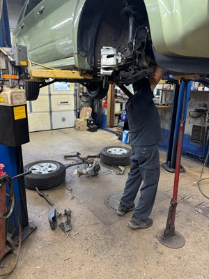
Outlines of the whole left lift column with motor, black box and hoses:
[[21,242],[36,225],[28,217],[21,148],[29,142],[26,97],[20,89],[27,66],[26,47],[11,46],[7,1],[0,4],[0,261],[18,246],[12,270],[0,275],[6,276],[15,269]]

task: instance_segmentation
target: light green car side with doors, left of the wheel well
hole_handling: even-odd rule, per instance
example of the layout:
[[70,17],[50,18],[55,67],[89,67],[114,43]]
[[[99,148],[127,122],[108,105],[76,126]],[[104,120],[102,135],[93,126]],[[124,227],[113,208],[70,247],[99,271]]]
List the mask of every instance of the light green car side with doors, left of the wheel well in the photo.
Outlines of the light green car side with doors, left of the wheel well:
[[[24,13],[28,2],[25,3]],[[13,33],[13,42],[26,45],[29,59],[36,63],[54,68],[82,66],[89,70],[86,58],[77,57],[77,30],[84,3],[84,0],[42,0],[26,17],[23,13]],[[45,10],[41,15],[38,11],[42,7]],[[24,28],[20,29],[22,24]]]

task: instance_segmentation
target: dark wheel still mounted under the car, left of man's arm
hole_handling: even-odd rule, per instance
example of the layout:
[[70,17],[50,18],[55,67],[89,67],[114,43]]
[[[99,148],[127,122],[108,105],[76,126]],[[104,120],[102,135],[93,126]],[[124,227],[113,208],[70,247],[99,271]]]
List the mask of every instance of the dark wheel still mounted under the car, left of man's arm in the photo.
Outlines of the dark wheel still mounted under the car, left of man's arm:
[[89,82],[86,84],[88,96],[92,100],[102,100],[107,96],[108,88],[104,89],[101,82]]

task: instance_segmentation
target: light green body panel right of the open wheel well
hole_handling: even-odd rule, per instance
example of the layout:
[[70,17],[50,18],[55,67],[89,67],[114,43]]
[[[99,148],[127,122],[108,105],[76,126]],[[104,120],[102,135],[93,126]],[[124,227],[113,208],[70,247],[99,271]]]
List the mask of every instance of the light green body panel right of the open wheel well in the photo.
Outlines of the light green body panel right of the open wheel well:
[[144,0],[153,46],[165,56],[209,57],[208,0]]

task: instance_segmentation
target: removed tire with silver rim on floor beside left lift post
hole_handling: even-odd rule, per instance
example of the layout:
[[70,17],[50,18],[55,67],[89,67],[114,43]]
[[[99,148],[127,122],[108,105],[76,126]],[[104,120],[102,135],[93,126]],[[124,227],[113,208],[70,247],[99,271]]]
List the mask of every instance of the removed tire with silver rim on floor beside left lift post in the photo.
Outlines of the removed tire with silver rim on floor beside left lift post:
[[30,170],[32,173],[24,176],[24,181],[26,188],[31,190],[36,190],[36,187],[40,190],[54,188],[65,181],[65,165],[56,161],[41,160],[29,163],[24,167],[24,172]]

